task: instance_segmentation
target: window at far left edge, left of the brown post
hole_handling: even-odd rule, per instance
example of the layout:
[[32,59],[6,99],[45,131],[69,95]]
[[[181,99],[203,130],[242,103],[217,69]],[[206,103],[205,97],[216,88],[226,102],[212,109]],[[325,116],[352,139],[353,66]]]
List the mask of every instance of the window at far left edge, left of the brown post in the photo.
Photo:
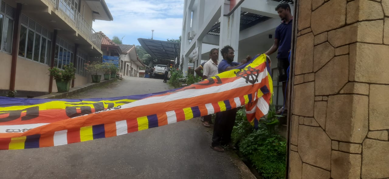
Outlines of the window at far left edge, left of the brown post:
[[11,53],[12,37],[14,33],[15,8],[1,2],[0,8],[0,51]]

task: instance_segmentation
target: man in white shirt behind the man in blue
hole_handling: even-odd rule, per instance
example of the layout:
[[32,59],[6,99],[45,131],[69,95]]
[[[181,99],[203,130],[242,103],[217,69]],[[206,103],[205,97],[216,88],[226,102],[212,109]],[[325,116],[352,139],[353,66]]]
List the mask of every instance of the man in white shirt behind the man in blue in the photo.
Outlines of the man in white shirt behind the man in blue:
[[[217,72],[217,65],[219,64],[219,61],[217,60],[219,58],[219,50],[212,49],[209,52],[209,56],[211,59],[209,59],[209,61],[207,61],[207,63],[205,63],[203,66],[203,80],[219,74]],[[211,120],[212,115],[204,116],[203,126],[210,127],[209,123],[211,122]]]

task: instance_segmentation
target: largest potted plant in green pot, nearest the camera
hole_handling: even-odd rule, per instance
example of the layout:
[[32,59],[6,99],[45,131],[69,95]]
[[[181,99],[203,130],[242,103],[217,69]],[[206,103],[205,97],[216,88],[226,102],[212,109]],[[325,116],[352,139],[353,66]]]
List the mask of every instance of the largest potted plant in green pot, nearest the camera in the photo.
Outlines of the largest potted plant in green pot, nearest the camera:
[[53,76],[58,92],[68,92],[70,89],[70,81],[75,78],[75,68],[73,63],[63,66],[63,70],[53,67],[49,68],[49,76]]

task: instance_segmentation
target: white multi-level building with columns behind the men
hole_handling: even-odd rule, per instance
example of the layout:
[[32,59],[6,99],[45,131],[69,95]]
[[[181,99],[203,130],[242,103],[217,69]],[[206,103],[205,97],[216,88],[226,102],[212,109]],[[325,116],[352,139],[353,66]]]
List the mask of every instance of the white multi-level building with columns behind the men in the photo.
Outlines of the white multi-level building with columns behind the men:
[[[288,2],[293,14],[293,0],[281,2]],[[281,22],[275,11],[279,3],[275,0],[185,0],[180,69],[186,74],[189,59],[198,59],[194,61],[196,67],[201,60],[209,60],[212,48],[221,50],[225,45],[234,48],[234,61],[238,62],[248,55],[265,53],[273,45],[275,28]],[[277,52],[270,55],[274,101],[282,106],[276,56]],[[219,52],[219,61],[222,59]]]

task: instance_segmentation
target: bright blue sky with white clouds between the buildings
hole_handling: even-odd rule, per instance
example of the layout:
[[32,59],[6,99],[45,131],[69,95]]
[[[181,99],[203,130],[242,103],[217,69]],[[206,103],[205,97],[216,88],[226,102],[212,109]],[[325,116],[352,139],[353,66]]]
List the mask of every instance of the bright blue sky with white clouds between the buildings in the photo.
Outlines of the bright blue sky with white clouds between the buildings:
[[123,44],[139,45],[138,38],[178,39],[182,30],[184,0],[105,0],[114,21],[93,22],[95,31],[112,39],[123,37]]

